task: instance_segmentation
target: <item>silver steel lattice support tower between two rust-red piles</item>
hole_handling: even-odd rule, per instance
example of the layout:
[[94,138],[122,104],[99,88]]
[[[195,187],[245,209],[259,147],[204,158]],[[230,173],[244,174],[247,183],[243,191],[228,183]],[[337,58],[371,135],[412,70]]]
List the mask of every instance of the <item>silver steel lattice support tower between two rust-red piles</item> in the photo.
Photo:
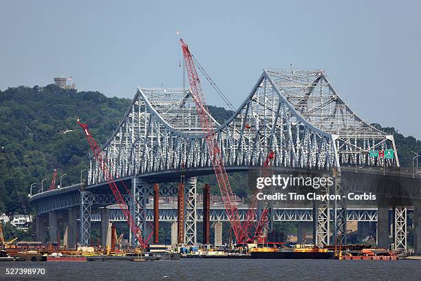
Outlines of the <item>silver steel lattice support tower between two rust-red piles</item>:
[[197,244],[196,178],[186,180],[186,244]]

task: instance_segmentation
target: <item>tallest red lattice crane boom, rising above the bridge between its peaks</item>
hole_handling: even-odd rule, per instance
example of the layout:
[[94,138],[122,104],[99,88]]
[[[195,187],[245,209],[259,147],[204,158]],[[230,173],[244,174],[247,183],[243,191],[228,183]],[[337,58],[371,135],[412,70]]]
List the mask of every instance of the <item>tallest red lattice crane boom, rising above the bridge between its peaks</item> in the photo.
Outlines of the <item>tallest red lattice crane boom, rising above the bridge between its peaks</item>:
[[239,220],[238,209],[235,204],[235,196],[228,180],[228,174],[226,173],[224,159],[222,158],[217,137],[214,134],[214,123],[209,117],[208,105],[206,105],[202,84],[200,83],[199,75],[197,74],[195,63],[193,61],[193,55],[190,50],[188,50],[188,46],[184,43],[183,39],[180,39],[180,44],[182,45],[184,63],[186,65],[193,100],[195,101],[197,114],[199,114],[200,125],[203,128],[210,159],[212,160],[215,176],[217,178],[219,189],[221,190],[222,200],[224,201],[224,207],[230,220],[231,227],[233,227],[237,242],[244,242],[244,240],[248,239],[248,234],[242,228]]

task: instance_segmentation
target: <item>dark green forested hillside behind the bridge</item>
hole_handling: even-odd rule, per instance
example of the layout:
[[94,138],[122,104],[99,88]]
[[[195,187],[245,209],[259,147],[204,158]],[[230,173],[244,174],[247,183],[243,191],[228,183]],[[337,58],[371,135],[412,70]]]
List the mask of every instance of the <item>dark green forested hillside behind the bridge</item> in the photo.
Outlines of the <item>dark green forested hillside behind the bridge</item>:
[[[76,92],[55,85],[46,87],[14,87],[0,91],[0,145],[3,145],[19,176],[23,189],[32,183],[36,189],[50,185],[57,169],[63,185],[78,183],[80,171],[86,167],[90,152],[85,138],[76,125],[80,118],[88,123],[99,143],[105,143],[120,123],[129,107],[127,98],[107,98],[99,92]],[[233,112],[223,107],[209,107],[210,113],[224,122]],[[380,127],[380,125],[376,125]],[[421,142],[412,136],[404,137],[393,128],[386,132],[395,135],[402,166],[411,166],[411,151],[421,152]],[[233,190],[246,196],[241,174],[234,174]],[[213,177],[206,178],[213,183]],[[200,180],[202,181],[202,180]],[[217,193],[217,187],[213,191]],[[19,213],[16,192],[13,190],[3,157],[0,157],[0,213]]]

